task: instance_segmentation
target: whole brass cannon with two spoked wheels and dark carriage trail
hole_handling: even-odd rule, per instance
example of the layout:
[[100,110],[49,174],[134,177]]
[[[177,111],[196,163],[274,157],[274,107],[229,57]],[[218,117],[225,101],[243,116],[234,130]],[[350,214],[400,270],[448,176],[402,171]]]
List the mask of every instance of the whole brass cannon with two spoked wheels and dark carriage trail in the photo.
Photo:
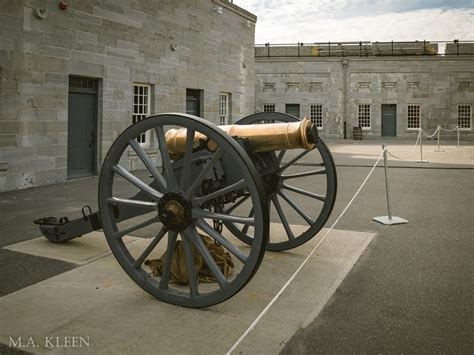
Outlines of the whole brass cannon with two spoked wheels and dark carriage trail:
[[[148,147],[137,141],[144,134]],[[159,114],[127,128],[110,147],[98,212],[86,207],[76,220],[35,223],[56,243],[102,228],[138,286],[162,301],[199,308],[239,292],[266,250],[289,250],[313,238],[331,214],[336,191],[331,153],[308,118],[264,112],[215,126],[191,115]],[[270,233],[270,221],[282,225],[283,237]],[[126,243],[127,235],[142,242]],[[222,271],[203,236],[232,257],[232,273]],[[178,244],[184,284],[172,280]],[[161,253],[157,275],[149,259]],[[215,282],[199,282],[198,259]]]

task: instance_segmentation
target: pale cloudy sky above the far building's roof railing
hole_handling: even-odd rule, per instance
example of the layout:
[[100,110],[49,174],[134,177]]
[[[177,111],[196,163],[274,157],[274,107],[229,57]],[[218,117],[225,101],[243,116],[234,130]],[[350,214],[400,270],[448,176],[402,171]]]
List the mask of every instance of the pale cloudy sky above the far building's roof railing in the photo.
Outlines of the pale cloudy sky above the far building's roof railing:
[[474,40],[474,0],[234,0],[256,43]]

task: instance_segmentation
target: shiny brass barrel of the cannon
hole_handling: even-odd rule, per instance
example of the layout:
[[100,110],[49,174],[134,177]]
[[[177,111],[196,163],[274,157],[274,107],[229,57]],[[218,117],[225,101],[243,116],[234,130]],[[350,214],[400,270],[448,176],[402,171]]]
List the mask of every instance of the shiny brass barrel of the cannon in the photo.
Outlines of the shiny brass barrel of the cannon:
[[[317,129],[310,119],[305,117],[298,122],[262,123],[252,125],[219,126],[232,137],[248,139],[256,152],[269,152],[282,149],[312,149],[317,139]],[[210,150],[215,143],[202,133],[194,135],[194,146],[207,142]],[[166,144],[172,156],[184,153],[186,147],[186,129],[170,129],[166,132]]]

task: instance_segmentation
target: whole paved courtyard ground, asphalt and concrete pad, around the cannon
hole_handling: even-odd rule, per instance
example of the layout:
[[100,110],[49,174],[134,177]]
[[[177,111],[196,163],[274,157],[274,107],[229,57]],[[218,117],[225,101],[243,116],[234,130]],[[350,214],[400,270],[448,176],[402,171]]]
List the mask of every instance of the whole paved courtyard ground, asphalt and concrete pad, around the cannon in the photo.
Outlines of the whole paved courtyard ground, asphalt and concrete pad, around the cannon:
[[[429,162],[420,163],[414,140],[384,142],[392,154],[393,214],[409,223],[372,221],[386,214],[380,165],[236,353],[473,352],[474,147],[450,142],[435,152],[436,142],[425,142],[423,159]],[[339,185],[327,226],[351,200],[384,142],[328,141]],[[100,235],[64,246],[36,239],[33,219],[74,218],[83,205],[96,208],[97,181],[0,194],[1,354],[12,351],[12,336],[37,342],[45,336],[88,336],[84,353],[225,353],[318,241],[267,253],[250,284],[221,305],[205,310],[166,305],[126,277]],[[281,232],[279,225],[272,228]]]

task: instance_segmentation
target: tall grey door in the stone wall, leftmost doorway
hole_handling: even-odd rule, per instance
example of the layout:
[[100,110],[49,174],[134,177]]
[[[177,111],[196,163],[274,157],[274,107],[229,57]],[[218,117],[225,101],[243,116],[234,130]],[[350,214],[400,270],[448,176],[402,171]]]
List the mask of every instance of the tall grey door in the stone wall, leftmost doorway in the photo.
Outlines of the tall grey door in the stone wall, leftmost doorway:
[[67,178],[96,174],[98,80],[69,78]]

